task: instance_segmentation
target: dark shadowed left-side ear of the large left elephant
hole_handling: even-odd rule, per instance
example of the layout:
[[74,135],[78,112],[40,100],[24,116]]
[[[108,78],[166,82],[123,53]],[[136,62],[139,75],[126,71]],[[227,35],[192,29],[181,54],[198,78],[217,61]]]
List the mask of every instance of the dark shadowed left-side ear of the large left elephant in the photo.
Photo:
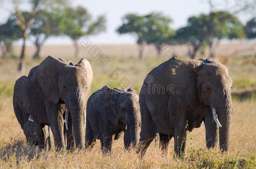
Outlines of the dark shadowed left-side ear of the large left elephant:
[[59,100],[58,95],[58,70],[67,63],[48,56],[40,63],[37,70],[37,81],[44,91],[44,95],[53,103]]

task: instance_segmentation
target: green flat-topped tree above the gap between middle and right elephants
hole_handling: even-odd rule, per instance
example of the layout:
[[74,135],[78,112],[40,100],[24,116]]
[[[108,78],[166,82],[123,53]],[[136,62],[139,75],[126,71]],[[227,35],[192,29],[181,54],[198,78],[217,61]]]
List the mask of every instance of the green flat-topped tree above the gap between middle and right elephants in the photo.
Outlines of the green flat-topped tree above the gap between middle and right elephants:
[[161,13],[150,13],[144,16],[127,14],[117,32],[133,33],[137,36],[137,43],[140,45],[139,58],[143,58],[146,43],[153,43],[160,55],[162,43],[173,33],[169,28],[171,22],[171,18]]

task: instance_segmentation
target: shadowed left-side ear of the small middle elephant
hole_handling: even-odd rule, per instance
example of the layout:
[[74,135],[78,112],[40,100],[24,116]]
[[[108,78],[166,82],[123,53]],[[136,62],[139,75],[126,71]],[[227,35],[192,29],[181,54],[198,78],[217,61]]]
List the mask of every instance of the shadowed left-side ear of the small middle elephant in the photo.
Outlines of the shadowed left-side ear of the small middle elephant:
[[112,124],[118,124],[118,113],[116,111],[116,103],[113,93],[115,89],[110,88],[109,86],[104,86],[102,92],[99,96],[99,102],[97,108],[100,114],[105,116],[111,121]]

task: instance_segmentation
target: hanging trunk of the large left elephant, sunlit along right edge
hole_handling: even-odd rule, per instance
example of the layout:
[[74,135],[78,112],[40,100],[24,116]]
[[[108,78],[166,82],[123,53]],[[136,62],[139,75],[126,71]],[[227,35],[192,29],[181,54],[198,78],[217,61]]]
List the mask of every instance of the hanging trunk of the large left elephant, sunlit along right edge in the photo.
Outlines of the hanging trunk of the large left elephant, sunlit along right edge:
[[73,106],[70,108],[71,118],[73,124],[74,137],[76,142],[76,148],[84,148],[84,107]]

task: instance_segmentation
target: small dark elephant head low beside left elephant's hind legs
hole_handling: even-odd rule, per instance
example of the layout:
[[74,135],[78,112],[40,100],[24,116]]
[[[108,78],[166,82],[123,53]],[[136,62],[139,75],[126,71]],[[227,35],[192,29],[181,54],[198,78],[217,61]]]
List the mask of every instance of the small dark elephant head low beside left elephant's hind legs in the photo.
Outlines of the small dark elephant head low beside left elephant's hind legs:
[[27,143],[37,145],[37,134],[35,131],[34,121],[29,119],[26,123],[24,123],[23,131],[26,136]]

